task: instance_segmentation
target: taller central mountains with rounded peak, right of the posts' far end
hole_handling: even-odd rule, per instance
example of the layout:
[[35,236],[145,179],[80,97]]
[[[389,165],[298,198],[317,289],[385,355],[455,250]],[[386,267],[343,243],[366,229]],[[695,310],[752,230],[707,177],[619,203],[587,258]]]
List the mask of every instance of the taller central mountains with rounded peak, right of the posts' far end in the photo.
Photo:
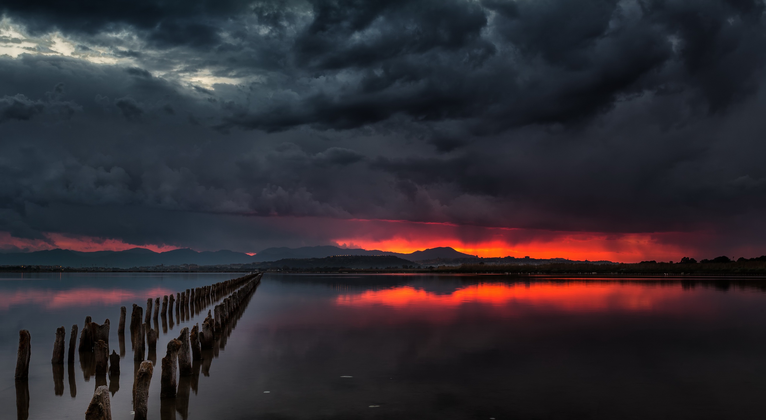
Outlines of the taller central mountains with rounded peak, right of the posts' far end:
[[392,255],[408,261],[431,260],[436,258],[475,258],[463,254],[450,247],[429,248],[424,251],[414,251],[401,254],[391,251],[366,250],[361,248],[339,248],[332,245],[302,248],[266,248],[255,254],[255,261],[277,261],[290,258],[326,258],[336,255]]

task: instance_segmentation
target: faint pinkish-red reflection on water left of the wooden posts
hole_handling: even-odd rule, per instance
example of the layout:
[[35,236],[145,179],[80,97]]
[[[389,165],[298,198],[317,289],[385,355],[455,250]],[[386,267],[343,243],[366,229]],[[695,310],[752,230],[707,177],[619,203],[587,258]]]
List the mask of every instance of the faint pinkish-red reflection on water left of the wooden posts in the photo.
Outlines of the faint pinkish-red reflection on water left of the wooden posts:
[[25,289],[5,292],[0,295],[0,310],[15,305],[36,304],[47,309],[77,307],[83,305],[113,305],[125,301],[144,303],[149,297],[171,294],[170,289],[154,287],[147,290],[99,289],[82,287],[78,289]]

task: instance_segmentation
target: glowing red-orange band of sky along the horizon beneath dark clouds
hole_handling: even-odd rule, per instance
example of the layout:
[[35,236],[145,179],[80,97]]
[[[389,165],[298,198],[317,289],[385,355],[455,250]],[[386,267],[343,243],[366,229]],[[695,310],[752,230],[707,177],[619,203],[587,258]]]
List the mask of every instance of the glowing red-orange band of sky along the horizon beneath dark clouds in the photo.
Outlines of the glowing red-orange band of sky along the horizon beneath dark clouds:
[[[715,238],[704,233],[603,233],[543,231],[521,228],[492,228],[421,223],[412,221],[363,219],[299,219],[272,218],[275,225],[293,231],[319,231],[314,243],[271,244],[288,246],[337,244],[341,247],[378,249],[410,253],[426,248],[452,247],[466,254],[480,257],[568,258],[571,260],[609,260],[638,262],[643,260],[679,261],[693,258],[714,258],[719,251],[706,249],[700,244],[715,244]],[[294,232],[293,232],[294,233]],[[149,248],[152,251],[171,251],[183,244],[132,244],[119,238],[97,238],[83,235],[45,234],[46,239],[14,238],[0,232],[0,250],[18,248],[27,251],[64,248],[74,251],[123,251],[129,248]],[[188,248],[195,249],[194,246]],[[241,249],[254,254],[257,249]],[[196,249],[217,251],[217,249]],[[737,249],[729,257],[758,256],[757,250]]]

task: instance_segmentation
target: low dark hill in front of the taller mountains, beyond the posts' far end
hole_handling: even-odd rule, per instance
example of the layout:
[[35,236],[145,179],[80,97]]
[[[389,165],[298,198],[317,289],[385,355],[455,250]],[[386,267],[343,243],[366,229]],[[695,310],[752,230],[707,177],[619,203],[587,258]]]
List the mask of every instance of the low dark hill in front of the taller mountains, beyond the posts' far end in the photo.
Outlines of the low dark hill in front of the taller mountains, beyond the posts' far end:
[[283,268],[386,268],[412,266],[412,261],[394,255],[334,255],[325,258],[284,258],[256,264],[260,269]]

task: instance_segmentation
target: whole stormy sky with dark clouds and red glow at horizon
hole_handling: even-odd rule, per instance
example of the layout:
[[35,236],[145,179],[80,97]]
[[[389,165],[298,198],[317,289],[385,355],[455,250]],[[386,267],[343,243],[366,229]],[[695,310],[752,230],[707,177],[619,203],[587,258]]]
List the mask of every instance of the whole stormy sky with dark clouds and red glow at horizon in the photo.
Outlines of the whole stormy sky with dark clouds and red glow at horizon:
[[748,0],[4,0],[0,251],[766,254]]

